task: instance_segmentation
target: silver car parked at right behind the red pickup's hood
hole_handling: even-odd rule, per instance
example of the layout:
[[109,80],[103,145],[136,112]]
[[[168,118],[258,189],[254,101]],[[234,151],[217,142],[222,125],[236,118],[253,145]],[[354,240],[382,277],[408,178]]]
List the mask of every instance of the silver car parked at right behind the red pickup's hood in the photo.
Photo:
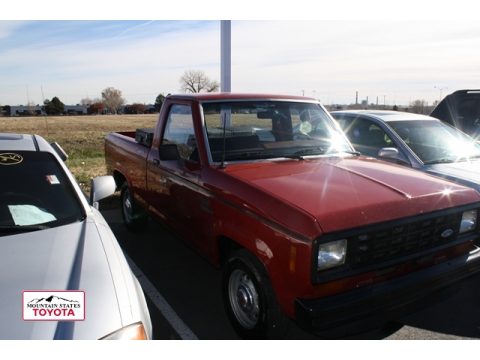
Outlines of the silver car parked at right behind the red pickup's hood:
[[382,110],[332,111],[355,150],[480,191],[480,145],[425,115]]

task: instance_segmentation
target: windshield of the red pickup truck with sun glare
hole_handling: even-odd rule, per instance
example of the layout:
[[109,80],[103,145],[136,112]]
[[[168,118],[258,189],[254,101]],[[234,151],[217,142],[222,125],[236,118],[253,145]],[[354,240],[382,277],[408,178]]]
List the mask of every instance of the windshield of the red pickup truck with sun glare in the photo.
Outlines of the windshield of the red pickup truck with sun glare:
[[316,103],[203,103],[212,161],[302,158],[353,149]]

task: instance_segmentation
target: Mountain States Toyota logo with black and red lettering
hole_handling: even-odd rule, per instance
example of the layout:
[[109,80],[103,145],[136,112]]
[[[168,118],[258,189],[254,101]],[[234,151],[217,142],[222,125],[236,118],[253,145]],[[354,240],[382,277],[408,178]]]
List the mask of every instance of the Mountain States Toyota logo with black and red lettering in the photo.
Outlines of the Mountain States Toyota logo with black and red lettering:
[[85,320],[85,291],[25,290],[23,320]]

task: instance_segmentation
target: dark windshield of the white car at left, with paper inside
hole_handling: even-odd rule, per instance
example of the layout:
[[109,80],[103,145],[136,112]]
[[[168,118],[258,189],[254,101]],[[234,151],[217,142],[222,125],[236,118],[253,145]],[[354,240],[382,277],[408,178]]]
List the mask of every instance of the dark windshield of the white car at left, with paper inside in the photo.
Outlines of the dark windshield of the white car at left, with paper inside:
[[45,152],[0,151],[0,236],[84,218],[70,180]]

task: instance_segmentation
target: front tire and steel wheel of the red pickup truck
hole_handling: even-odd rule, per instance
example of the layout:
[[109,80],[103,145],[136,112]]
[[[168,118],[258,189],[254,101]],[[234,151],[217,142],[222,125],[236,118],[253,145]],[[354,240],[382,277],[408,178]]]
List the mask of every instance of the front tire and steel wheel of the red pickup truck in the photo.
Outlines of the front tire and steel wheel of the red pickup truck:
[[281,312],[263,264],[246,250],[233,253],[224,266],[225,311],[244,339],[283,338],[289,319]]

